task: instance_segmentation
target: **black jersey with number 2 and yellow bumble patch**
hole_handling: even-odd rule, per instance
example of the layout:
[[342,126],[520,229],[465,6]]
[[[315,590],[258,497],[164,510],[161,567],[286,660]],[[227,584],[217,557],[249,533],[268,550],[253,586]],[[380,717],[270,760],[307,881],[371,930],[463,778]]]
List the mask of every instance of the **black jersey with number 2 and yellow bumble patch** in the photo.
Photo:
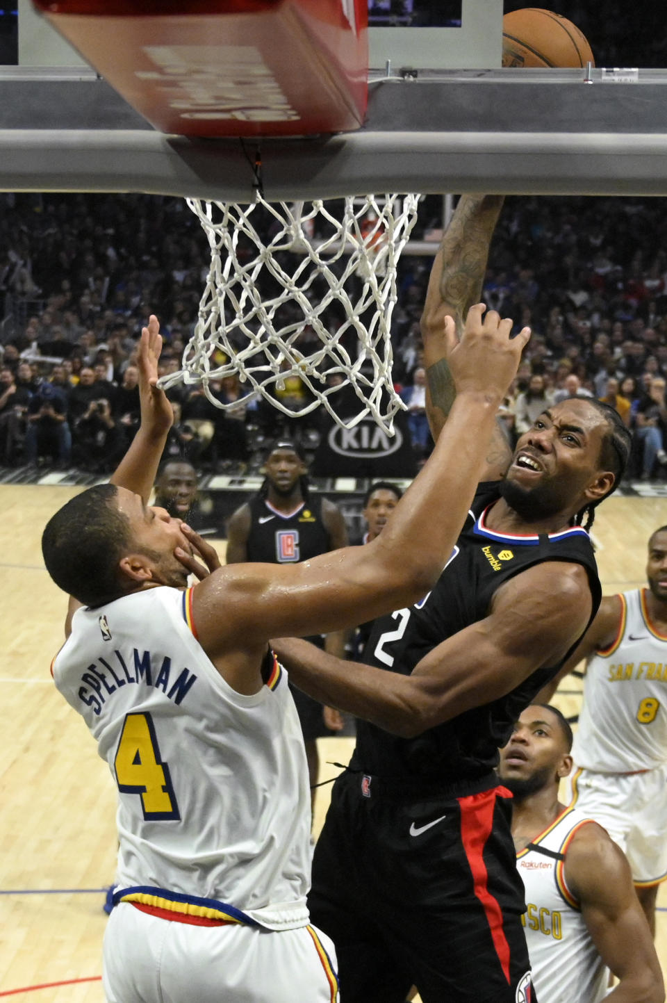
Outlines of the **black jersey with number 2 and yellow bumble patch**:
[[[408,675],[436,645],[484,619],[499,585],[545,561],[586,568],[593,619],[601,589],[588,534],[581,527],[539,537],[494,533],[485,528],[484,513],[498,497],[498,481],[478,486],[437,584],[420,603],[375,621],[364,662]],[[416,738],[399,738],[358,721],[352,767],[389,783],[410,781],[415,786],[449,785],[484,776],[496,765],[497,749],[509,741],[522,710],[554,678],[570,652],[558,665],[538,669],[507,696],[465,711]]]

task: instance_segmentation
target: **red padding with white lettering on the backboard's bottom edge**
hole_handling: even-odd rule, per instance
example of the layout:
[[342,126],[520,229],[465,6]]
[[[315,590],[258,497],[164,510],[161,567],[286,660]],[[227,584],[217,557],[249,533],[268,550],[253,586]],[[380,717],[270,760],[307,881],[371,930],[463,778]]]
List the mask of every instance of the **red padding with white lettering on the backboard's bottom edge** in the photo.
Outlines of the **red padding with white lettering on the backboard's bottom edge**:
[[162,132],[285,136],[362,124],[366,0],[35,0],[35,6]]

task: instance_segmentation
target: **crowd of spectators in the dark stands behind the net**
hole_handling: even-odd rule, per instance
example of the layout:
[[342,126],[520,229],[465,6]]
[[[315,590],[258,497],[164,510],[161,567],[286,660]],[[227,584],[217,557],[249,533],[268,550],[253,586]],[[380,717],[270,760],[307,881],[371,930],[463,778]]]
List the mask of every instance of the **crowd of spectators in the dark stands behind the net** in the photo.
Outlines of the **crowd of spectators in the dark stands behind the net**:
[[[440,225],[440,206],[425,201],[418,239]],[[594,395],[634,431],[633,476],[667,474],[666,225],[664,200],[508,200],[483,299],[517,330],[533,328],[503,408],[511,437],[550,402]],[[137,426],[141,326],[158,315],[163,374],[180,368],[194,329],[209,269],[198,220],[168,197],[2,195],[0,249],[0,464],[111,470]],[[420,456],[429,449],[419,315],[430,264],[401,259],[392,322],[393,378]],[[278,412],[236,377],[212,390],[241,399],[239,410],[220,410],[198,386],[170,389],[168,454],[209,469],[243,464],[255,438],[275,432]],[[277,392],[288,408],[307,398],[298,377]]]

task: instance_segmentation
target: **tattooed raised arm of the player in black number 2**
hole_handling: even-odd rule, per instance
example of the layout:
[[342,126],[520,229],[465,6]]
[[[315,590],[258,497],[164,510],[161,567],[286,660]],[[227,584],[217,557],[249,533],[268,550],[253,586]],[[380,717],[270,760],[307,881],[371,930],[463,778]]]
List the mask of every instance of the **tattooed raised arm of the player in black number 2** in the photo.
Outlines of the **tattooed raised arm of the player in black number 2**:
[[[481,295],[488,249],[503,208],[503,196],[462,195],[431,268],[421,315],[426,367],[426,413],[436,439],[455,396],[441,332],[446,316],[462,329],[470,305]],[[493,429],[480,479],[497,479],[508,468],[512,450],[505,428]]]

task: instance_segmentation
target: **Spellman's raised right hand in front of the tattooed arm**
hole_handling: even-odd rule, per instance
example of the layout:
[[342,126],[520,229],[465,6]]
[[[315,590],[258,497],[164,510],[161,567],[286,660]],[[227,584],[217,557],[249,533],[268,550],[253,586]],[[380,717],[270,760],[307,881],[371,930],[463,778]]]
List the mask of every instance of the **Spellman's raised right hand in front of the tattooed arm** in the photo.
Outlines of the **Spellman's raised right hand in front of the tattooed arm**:
[[476,303],[467,312],[459,341],[453,319],[445,318],[443,341],[457,393],[480,393],[501,403],[531,337],[530,327],[525,327],[512,338],[512,328],[510,318],[502,319],[495,310]]

